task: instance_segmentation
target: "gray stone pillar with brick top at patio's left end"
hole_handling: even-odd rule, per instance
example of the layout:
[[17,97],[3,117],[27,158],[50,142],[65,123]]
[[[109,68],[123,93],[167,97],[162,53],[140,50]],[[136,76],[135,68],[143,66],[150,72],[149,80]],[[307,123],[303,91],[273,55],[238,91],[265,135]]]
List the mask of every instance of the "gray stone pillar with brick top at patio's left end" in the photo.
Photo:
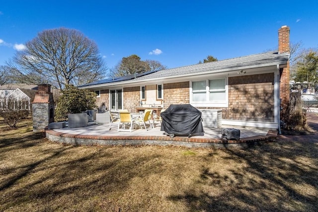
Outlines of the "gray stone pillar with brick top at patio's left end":
[[38,91],[32,102],[33,132],[43,132],[54,122],[54,100],[50,84],[38,84]]

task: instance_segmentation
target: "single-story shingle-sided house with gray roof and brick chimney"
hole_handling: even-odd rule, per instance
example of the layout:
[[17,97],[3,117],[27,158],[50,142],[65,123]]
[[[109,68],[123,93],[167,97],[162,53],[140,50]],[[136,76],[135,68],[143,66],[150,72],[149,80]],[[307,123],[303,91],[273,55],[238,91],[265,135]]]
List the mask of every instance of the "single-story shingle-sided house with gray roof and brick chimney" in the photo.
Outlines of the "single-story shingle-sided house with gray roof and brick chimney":
[[[279,129],[289,103],[289,27],[279,50],[175,69],[109,78],[79,86],[95,91],[111,111],[170,104],[222,110],[222,125]],[[206,116],[206,113],[205,113]],[[206,117],[202,117],[203,122]]]

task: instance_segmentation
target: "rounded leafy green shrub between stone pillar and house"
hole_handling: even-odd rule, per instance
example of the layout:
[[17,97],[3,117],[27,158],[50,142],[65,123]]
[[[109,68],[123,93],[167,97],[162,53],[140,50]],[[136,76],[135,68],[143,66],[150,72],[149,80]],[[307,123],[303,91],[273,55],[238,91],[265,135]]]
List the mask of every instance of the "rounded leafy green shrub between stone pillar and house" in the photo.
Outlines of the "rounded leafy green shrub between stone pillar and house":
[[96,94],[74,85],[66,85],[57,103],[55,119],[66,120],[70,113],[81,113],[96,108]]

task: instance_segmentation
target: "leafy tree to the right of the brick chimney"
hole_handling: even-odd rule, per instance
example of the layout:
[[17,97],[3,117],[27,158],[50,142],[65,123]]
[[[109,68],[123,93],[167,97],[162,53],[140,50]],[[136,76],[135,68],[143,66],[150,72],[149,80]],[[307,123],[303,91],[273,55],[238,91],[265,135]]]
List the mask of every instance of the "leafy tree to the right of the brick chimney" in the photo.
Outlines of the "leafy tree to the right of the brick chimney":
[[308,81],[317,84],[318,80],[318,51],[309,49],[301,53],[291,68],[295,81]]

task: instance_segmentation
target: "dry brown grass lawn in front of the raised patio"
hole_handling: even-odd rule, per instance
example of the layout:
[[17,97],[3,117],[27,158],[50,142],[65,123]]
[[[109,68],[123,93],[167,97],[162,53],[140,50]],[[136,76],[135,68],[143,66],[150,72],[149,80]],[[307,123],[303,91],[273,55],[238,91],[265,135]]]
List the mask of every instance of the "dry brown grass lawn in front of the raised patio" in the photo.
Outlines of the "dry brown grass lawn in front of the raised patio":
[[[21,123],[23,124],[23,123]],[[0,211],[315,211],[318,144],[73,146],[0,125]]]

